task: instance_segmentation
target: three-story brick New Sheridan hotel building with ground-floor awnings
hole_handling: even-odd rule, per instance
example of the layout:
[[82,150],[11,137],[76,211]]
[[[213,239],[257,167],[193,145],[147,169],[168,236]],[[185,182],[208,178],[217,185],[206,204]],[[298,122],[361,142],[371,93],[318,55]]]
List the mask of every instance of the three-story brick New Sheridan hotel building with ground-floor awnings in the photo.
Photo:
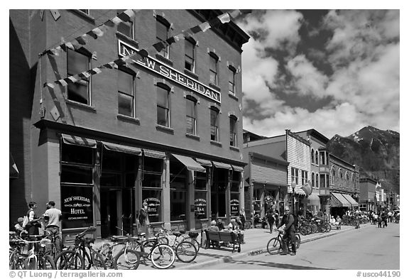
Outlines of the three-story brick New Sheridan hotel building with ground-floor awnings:
[[[82,48],[38,53],[78,38],[120,10],[10,11],[10,220],[30,201],[54,200],[62,233],[97,226],[130,230],[148,202],[150,221],[201,229],[244,204],[241,46],[232,21],[158,41],[209,21],[219,10],[141,10]],[[136,63],[79,82],[45,82],[148,49]],[[239,136],[238,136],[239,135]]]

